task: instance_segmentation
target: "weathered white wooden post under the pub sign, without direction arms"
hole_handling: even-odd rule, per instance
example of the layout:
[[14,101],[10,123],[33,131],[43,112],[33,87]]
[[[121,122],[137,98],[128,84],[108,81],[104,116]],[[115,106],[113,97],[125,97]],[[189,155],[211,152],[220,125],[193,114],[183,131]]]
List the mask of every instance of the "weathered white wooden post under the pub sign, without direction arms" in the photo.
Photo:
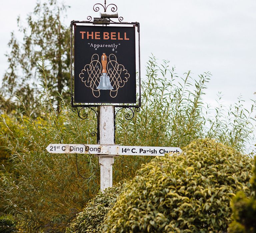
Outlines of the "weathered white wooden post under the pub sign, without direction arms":
[[[99,118],[99,144],[114,144],[114,107],[113,106],[100,106]],[[100,190],[112,187],[112,165],[114,157],[99,157],[100,163]]]

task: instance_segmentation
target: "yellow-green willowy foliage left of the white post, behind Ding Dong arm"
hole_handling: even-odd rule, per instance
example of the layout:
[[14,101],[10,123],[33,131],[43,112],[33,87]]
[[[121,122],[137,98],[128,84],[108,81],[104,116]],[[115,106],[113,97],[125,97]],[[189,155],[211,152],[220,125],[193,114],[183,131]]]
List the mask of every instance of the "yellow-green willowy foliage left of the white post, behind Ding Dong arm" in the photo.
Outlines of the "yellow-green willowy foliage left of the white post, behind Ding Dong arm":
[[[50,154],[46,147],[50,143],[95,144],[91,131],[97,121],[92,113],[81,120],[65,101],[60,112],[56,111],[51,90],[46,88],[49,77],[44,65],[41,68],[45,89],[37,97],[37,110],[26,109],[19,99],[15,116],[0,116],[0,143],[7,146],[11,167],[6,166],[0,176],[0,207],[15,218],[22,231],[65,232],[98,192],[100,172],[90,180],[83,179],[77,173],[75,154]],[[41,116],[36,117],[35,112]],[[97,170],[94,155],[78,155],[77,162],[85,177]]]

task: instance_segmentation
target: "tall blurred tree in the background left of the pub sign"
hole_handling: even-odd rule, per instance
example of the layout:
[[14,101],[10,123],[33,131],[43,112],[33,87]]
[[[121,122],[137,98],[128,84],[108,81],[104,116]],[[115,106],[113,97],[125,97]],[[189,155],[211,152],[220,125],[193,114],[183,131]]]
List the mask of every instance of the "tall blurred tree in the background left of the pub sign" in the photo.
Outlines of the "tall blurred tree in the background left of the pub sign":
[[26,107],[36,107],[35,96],[40,92],[40,79],[37,79],[35,67],[38,57],[43,56],[46,63],[51,65],[48,69],[51,74],[48,76],[48,87],[52,89],[51,101],[56,103],[57,100],[60,105],[61,98],[57,94],[62,93],[66,98],[70,86],[70,30],[62,24],[68,6],[57,0],[35,2],[33,12],[25,19],[26,26],[22,19],[17,19],[22,40],[11,34],[8,43],[10,53],[6,55],[8,69],[0,91],[7,99],[17,95],[23,97]]

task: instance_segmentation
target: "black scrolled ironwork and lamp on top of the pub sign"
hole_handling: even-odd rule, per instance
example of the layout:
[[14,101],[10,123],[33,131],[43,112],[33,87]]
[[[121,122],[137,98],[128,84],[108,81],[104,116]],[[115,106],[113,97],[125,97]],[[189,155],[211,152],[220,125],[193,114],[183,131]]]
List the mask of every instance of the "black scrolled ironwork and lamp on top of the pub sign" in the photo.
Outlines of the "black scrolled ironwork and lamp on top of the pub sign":
[[[100,18],[92,18],[91,16],[88,16],[87,17],[88,21],[84,21],[84,22],[91,22],[93,19],[93,22],[95,24],[109,24],[109,22],[118,23],[111,20],[110,18],[118,18],[119,23],[121,23],[124,20],[123,17],[118,17],[116,4],[110,3],[107,5],[106,0],[104,0],[104,4],[96,3],[93,6],[93,10],[95,12],[100,11],[100,8],[104,10],[104,13],[100,13]],[[107,13],[107,9],[110,9],[111,12]]]

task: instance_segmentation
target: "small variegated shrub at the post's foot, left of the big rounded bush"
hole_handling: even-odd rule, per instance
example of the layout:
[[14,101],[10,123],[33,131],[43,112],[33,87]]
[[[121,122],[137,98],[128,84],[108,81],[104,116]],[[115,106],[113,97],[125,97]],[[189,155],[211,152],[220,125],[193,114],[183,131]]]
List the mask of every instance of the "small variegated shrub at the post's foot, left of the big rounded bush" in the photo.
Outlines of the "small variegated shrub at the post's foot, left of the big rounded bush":
[[84,211],[80,212],[70,224],[67,232],[102,233],[104,217],[113,208],[126,184],[127,181],[123,180],[90,200]]

